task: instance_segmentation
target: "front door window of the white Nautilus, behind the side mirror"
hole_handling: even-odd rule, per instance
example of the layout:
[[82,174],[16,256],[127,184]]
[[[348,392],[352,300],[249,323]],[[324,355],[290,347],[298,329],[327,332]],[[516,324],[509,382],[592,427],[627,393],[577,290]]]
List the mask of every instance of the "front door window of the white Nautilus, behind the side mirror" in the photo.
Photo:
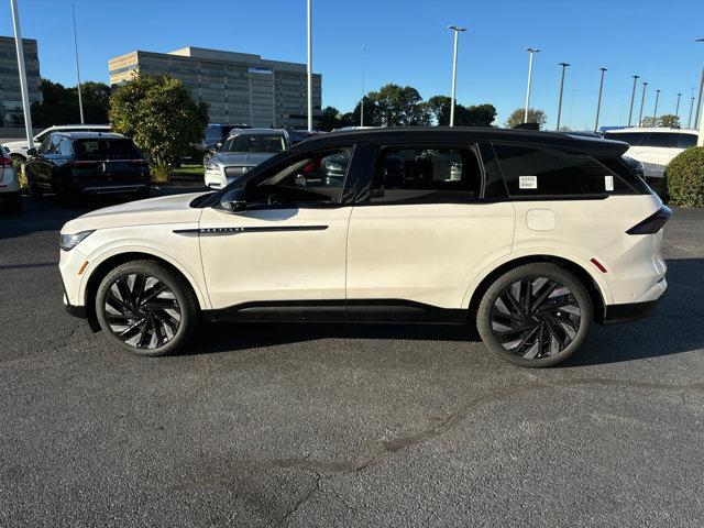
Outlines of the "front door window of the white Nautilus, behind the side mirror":
[[299,158],[274,174],[246,184],[248,209],[339,204],[352,161],[352,148],[339,148]]

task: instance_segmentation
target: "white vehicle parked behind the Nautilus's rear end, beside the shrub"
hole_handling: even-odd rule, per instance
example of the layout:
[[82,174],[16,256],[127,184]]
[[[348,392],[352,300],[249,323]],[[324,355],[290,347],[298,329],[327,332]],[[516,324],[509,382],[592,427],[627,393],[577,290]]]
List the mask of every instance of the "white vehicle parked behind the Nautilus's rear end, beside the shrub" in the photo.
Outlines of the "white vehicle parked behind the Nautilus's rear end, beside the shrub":
[[698,132],[686,129],[618,129],[604,134],[607,140],[624,141],[630,146],[626,155],[642,163],[646,182],[662,185],[664,168],[681,152],[696,146]]

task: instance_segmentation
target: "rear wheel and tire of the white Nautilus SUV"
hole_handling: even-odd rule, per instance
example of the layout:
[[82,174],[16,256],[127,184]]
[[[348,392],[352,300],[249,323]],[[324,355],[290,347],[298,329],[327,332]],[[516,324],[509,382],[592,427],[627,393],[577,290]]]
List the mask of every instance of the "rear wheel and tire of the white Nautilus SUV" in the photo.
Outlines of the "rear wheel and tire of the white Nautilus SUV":
[[488,287],[476,328],[502,360],[538,369],[572,355],[586,339],[592,317],[592,299],[579,278],[556,264],[532,263]]

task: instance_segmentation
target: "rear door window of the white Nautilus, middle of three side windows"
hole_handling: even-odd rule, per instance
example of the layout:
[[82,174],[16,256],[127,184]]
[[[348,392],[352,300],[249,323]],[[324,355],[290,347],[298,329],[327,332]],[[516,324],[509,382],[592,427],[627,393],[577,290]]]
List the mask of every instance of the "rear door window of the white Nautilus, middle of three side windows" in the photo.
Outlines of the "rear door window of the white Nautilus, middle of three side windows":
[[372,204],[438,204],[479,198],[481,172],[474,151],[444,146],[386,146],[372,178]]

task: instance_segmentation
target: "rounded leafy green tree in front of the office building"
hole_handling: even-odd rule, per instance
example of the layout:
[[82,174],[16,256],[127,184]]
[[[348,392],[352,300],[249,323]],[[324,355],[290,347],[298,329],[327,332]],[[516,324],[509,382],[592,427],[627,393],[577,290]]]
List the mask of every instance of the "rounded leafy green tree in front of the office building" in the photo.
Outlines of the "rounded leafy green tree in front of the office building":
[[140,74],[112,94],[109,117],[112,129],[132,138],[163,177],[201,140],[208,105],[196,103],[179,79]]

